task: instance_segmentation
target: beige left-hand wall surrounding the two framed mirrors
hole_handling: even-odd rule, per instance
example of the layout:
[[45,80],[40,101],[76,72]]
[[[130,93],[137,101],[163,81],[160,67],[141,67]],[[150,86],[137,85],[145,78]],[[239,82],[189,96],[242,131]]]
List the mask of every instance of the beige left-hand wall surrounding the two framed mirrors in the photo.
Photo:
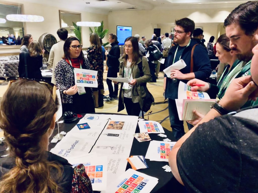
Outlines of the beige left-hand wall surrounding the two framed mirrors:
[[[16,3],[15,0],[10,0],[10,2]],[[41,15],[44,17],[43,22],[26,22],[26,32],[31,34],[34,40],[38,40],[43,33],[51,33],[59,41],[57,30],[60,28],[59,22],[59,10],[63,10],[59,7],[46,6],[36,3],[20,2],[24,5],[24,14],[30,15]],[[65,10],[64,10],[65,11]],[[78,12],[76,10],[67,10]],[[82,21],[104,21],[105,29],[108,28],[108,16],[105,14],[96,14],[88,12],[78,12],[81,13]],[[89,42],[90,30],[88,27],[82,27],[82,39],[83,47],[90,46]],[[103,43],[107,42],[107,36],[104,37]]]

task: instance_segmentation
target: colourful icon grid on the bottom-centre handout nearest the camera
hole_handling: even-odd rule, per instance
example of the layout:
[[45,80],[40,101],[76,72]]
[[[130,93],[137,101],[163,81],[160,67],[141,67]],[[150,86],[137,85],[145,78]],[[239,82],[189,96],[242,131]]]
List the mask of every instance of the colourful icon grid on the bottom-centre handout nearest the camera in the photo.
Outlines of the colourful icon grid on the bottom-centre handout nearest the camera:
[[143,177],[133,174],[115,193],[139,193],[147,184]]

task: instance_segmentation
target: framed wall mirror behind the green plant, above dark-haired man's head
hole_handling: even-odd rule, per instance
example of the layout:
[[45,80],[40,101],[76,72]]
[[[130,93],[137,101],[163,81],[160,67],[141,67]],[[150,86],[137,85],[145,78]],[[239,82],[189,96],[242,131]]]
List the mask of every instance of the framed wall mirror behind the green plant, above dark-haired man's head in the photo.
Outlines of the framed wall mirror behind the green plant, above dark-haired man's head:
[[81,21],[81,14],[59,10],[59,18],[60,28],[67,29],[68,37],[75,36],[82,43],[82,27],[76,26],[76,22]]

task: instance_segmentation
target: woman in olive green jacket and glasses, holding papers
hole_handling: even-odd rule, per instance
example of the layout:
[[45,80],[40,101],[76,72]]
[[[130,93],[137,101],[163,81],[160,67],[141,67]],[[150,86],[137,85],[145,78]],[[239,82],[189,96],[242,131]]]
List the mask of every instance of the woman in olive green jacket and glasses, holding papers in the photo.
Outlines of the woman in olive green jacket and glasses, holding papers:
[[122,83],[119,93],[118,112],[126,108],[128,115],[139,116],[146,96],[146,82],[150,81],[150,68],[145,57],[139,53],[135,37],[125,39],[124,54],[120,58],[119,77],[130,83]]

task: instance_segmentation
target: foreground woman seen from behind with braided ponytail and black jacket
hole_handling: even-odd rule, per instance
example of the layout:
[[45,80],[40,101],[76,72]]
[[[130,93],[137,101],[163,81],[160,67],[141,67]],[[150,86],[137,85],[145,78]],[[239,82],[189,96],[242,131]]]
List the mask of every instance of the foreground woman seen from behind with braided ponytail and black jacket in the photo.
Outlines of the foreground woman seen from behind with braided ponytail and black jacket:
[[76,192],[72,166],[48,152],[58,109],[49,84],[16,80],[1,100],[0,128],[10,150],[0,158],[0,193]]

